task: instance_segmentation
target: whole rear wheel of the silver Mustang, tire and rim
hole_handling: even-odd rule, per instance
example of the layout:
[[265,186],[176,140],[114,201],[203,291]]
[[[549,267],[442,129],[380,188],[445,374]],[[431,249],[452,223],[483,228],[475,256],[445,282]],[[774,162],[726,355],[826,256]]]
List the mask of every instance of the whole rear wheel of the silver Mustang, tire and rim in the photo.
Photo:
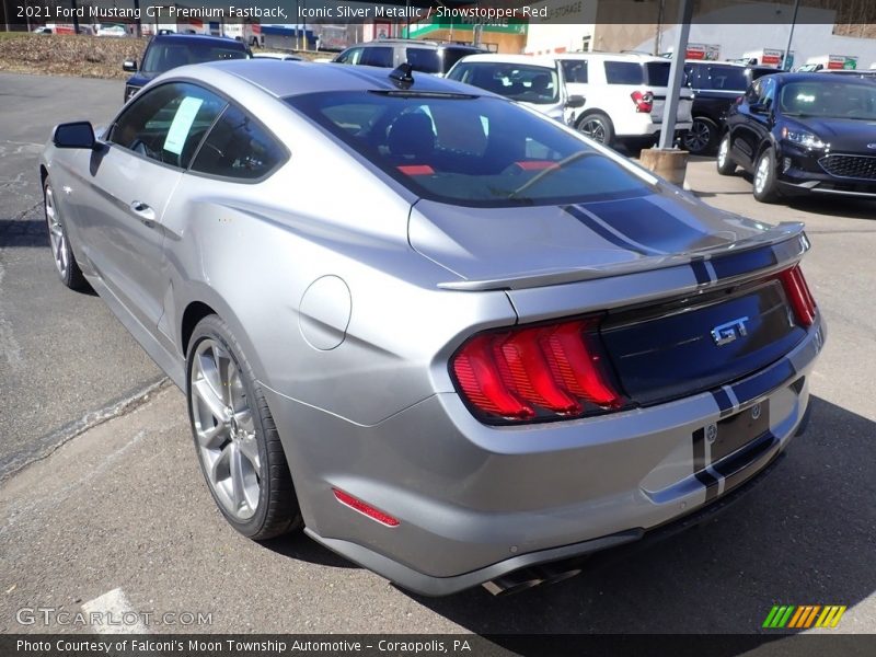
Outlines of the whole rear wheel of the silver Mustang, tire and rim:
[[218,316],[195,327],[187,365],[195,447],[226,520],[254,540],[298,528],[301,515],[274,418],[243,350]]

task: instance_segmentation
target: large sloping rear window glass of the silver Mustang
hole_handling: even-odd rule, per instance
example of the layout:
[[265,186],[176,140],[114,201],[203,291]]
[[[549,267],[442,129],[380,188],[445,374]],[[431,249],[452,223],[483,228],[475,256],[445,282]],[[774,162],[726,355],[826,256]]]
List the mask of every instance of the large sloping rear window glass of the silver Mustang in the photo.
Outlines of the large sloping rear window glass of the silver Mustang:
[[555,122],[500,99],[350,91],[286,102],[431,200],[508,207],[649,193],[641,177]]

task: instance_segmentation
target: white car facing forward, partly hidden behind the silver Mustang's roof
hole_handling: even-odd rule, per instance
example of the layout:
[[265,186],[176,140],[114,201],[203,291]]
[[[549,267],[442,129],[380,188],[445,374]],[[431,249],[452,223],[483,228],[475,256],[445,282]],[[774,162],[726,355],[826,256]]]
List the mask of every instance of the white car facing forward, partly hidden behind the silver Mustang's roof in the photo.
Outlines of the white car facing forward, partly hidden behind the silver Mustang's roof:
[[451,80],[473,84],[568,123],[572,111],[583,107],[581,96],[569,96],[563,72],[553,59],[525,55],[469,55],[447,73]]

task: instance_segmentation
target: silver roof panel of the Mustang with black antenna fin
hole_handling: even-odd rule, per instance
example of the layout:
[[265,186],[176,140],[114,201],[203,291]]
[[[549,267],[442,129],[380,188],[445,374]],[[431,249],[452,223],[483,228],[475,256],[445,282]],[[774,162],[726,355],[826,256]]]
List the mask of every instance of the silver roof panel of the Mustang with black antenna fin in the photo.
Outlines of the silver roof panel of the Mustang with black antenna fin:
[[[392,91],[399,89],[389,77],[392,69],[333,62],[313,66],[308,61],[281,61],[279,59],[227,59],[180,67],[171,72],[197,78],[197,71],[206,72],[207,69],[211,73],[245,80],[277,97],[320,91]],[[413,78],[414,82],[405,89],[406,91],[496,95],[428,73],[414,71]]]

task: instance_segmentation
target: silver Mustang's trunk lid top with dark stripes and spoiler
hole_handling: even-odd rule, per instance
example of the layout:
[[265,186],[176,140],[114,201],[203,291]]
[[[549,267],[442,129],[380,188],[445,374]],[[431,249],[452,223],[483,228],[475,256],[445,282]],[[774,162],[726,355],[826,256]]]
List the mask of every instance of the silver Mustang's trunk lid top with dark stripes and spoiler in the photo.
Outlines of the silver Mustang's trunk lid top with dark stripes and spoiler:
[[408,239],[463,278],[450,287],[535,287],[690,262],[787,239],[777,229],[706,206],[675,188],[566,206],[465,208],[419,200]]

